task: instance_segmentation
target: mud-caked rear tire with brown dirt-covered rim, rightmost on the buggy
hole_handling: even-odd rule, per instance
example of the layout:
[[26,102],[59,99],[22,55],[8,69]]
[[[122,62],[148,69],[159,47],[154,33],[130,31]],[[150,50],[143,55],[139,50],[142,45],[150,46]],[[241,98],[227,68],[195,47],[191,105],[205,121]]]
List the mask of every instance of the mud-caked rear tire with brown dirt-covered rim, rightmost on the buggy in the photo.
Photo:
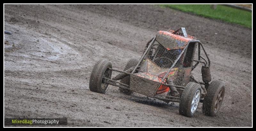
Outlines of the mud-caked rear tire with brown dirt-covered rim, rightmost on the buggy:
[[[225,83],[220,80],[212,81],[208,86],[207,94],[204,97],[203,113],[208,116],[216,116],[224,100],[224,95]],[[218,103],[216,103],[217,100]]]

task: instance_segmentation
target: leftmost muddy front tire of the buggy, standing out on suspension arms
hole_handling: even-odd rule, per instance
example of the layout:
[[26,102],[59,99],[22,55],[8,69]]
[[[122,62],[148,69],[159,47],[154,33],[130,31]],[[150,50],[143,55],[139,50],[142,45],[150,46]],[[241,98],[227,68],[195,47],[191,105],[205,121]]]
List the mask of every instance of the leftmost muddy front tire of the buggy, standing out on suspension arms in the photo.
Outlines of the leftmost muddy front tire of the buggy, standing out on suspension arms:
[[100,59],[94,65],[89,82],[90,91],[105,93],[108,84],[102,83],[102,78],[104,76],[111,79],[112,75],[112,70],[108,70],[108,68],[112,68],[112,64],[106,59]]

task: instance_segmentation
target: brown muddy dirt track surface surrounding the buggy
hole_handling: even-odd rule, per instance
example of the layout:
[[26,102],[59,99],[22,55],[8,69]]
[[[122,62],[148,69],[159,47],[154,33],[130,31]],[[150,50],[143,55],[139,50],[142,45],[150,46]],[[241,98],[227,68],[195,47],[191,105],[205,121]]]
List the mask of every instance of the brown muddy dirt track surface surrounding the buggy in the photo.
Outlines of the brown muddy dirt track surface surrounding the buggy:
[[[188,118],[178,103],[113,86],[106,94],[89,90],[100,58],[123,69],[158,30],[180,27],[204,44],[212,78],[226,84],[218,116],[205,116],[202,103]],[[155,5],[4,5],[4,30],[13,33],[4,34],[5,118],[68,118],[68,126],[85,127],[252,126],[251,29]],[[199,80],[200,72],[193,72]]]

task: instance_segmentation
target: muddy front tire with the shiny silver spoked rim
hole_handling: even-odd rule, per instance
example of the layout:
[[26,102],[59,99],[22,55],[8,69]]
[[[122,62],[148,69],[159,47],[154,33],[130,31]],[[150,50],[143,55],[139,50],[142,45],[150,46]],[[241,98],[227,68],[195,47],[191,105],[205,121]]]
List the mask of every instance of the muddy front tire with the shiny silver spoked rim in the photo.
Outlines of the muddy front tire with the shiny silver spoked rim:
[[[193,117],[193,115],[196,113],[196,109],[199,105],[199,101],[196,102],[196,104],[193,104],[192,101],[194,96],[197,95],[197,91],[200,91],[200,94],[198,94],[198,97],[196,100],[201,98],[202,89],[201,86],[195,82],[189,82],[188,85],[183,90],[181,97],[180,97],[180,105],[179,105],[179,113],[181,115],[187,116],[187,117]],[[193,112],[191,112],[191,109],[193,108]]]

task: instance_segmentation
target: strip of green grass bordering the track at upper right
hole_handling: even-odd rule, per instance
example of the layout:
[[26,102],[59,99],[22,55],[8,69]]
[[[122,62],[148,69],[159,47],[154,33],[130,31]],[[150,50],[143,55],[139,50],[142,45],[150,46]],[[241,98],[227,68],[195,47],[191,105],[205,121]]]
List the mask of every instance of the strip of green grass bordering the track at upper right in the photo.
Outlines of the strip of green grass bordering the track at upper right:
[[190,12],[202,17],[220,19],[232,24],[240,24],[252,28],[252,12],[239,10],[224,5],[217,5],[213,10],[210,4],[160,4],[184,12]]

